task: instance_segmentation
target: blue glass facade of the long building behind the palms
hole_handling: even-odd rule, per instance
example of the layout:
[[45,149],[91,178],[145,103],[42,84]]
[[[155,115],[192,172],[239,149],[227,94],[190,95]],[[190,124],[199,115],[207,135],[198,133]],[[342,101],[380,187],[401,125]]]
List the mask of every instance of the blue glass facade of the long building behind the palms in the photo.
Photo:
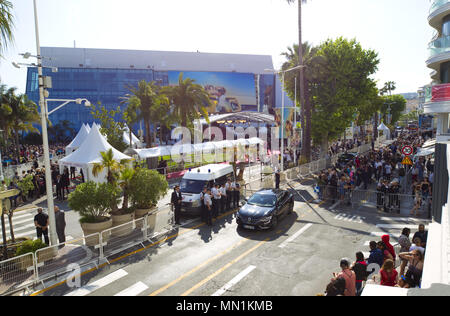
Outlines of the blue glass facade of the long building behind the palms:
[[[100,102],[108,110],[116,109],[127,93],[128,87],[136,87],[141,80],[156,81],[163,86],[169,85],[169,77],[174,76],[171,71],[154,71],[153,69],[96,69],[96,68],[58,68],[58,72],[52,72],[50,68],[44,68],[44,76],[52,78],[53,87],[49,89],[49,99],[88,99],[92,104]],[[208,74],[208,73],[205,73]],[[214,73],[213,73],[214,74]],[[231,80],[237,81],[243,77],[239,73],[224,73],[228,77],[235,76]],[[253,75],[250,75],[251,78]],[[185,76],[186,77],[186,76]],[[256,77],[256,76],[255,76]],[[253,79],[250,80],[253,82]],[[255,80],[256,81],[256,80]],[[173,84],[173,83],[172,83]],[[261,75],[260,79],[260,102],[269,108],[275,104],[274,93],[275,76]],[[255,85],[252,83],[253,87]],[[239,86],[239,84],[237,84]],[[253,89],[253,94],[256,89]],[[28,68],[26,94],[39,103],[38,74],[37,68]],[[257,111],[256,95],[254,95],[254,110]],[[61,102],[49,102],[49,111],[59,106]],[[49,117],[53,124],[68,120],[73,123],[75,129],[79,129],[83,123],[92,124],[94,119],[90,108],[84,104],[70,103],[59,109]],[[119,119],[119,117],[117,118]],[[99,123],[99,122],[97,122]],[[133,129],[136,129],[135,126]]]

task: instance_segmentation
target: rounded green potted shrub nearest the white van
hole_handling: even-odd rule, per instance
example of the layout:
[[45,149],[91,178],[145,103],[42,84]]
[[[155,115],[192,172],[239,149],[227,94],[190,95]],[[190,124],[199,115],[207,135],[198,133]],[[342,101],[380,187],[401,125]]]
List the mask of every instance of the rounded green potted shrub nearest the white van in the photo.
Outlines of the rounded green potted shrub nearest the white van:
[[[159,199],[167,194],[169,184],[166,177],[155,170],[137,168],[130,181],[130,199],[136,208],[136,219],[156,209]],[[149,226],[154,227],[156,214],[150,214]]]

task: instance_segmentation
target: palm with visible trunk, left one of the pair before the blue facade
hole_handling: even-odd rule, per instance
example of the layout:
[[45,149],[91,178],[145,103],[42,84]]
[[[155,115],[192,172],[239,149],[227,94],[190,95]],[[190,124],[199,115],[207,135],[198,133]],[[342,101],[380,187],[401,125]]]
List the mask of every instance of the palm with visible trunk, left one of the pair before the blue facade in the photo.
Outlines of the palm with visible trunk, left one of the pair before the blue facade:
[[153,121],[153,108],[157,105],[168,103],[167,97],[161,93],[161,87],[155,81],[146,82],[142,80],[138,83],[138,87],[128,87],[131,94],[125,95],[122,103],[128,106],[139,109],[137,120],[144,120],[145,125],[145,142],[147,147],[152,145],[152,134],[150,131],[150,124]]

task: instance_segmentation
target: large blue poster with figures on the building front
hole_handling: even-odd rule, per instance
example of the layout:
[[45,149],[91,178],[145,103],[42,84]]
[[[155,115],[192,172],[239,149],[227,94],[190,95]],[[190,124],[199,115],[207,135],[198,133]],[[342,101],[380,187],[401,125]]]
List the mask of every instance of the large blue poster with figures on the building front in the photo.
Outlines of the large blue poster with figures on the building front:
[[258,111],[255,75],[227,72],[169,71],[169,85],[177,85],[180,73],[191,78],[209,93],[212,105],[208,113]]

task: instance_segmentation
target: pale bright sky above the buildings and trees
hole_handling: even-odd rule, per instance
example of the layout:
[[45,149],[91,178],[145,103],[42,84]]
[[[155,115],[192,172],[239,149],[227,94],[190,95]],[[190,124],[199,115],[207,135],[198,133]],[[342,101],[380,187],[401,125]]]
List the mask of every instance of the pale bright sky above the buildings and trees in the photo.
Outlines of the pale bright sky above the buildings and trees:
[[[12,0],[15,45],[0,60],[3,84],[24,92],[26,71],[11,65],[36,53],[32,0]],[[305,41],[356,38],[379,53],[379,87],[398,93],[430,82],[425,66],[433,29],[429,0],[310,0]],[[280,53],[298,41],[297,7],[285,0],[38,0],[41,46],[263,54],[280,67]]]

